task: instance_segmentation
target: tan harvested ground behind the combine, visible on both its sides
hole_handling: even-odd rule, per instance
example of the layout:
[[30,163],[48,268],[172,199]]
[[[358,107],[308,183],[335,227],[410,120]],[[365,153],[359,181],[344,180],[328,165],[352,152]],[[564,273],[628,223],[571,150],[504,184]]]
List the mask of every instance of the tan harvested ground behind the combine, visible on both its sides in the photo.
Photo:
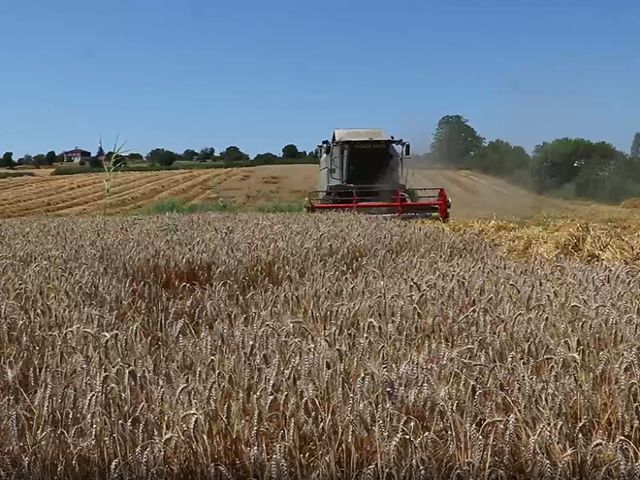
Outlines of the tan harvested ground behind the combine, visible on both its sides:
[[[302,200],[316,188],[315,165],[273,165],[216,170],[124,172],[111,184],[109,213],[135,212],[162,199],[238,204]],[[103,174],[37,175],[0,180],[0,218],[34,215],[91,215],[104,210]],[[414,187],[444,187],[454,218],[530,217],[588,208],[534,195],[506,181],[452,170],[414,170]]]

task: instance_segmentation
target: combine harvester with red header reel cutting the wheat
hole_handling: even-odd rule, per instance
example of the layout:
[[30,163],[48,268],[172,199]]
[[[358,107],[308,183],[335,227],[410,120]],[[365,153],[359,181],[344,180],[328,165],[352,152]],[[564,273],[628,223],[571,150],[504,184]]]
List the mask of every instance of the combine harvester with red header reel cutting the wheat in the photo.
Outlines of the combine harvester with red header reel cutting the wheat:
[[318,191],[307,198],[307,212],[449,220],[451,200],[444,188],[407,188],[404,158],[411,155],[409,143],[380,129],[348,129],[335,130],[331,142],[325,140],[318,148],[320,180]]

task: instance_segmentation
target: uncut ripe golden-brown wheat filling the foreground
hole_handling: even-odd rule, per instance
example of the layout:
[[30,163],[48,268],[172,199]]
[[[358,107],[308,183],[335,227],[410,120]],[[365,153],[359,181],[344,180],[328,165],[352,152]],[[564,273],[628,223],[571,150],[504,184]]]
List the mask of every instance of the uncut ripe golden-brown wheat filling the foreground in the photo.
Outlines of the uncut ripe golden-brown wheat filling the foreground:
[[210,214],[4,221],[0,272],[4,477],[640,470],[635,267]]

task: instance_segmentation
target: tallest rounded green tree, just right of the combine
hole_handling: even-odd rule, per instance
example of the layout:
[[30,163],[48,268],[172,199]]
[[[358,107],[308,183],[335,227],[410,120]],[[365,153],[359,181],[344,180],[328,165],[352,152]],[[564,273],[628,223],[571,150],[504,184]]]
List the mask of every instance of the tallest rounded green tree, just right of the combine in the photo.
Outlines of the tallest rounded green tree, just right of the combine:
[[431,152],[441,164],[469,168],[482,153],[484,138],[461,115],[446,115],[440,119],[433,135]]

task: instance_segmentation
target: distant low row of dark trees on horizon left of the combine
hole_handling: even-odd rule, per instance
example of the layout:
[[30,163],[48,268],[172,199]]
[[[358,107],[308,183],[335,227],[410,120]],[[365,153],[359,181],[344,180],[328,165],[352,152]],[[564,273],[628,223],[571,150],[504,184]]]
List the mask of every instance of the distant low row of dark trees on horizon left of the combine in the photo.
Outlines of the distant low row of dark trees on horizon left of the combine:
[[[107,152],[104,154],[104,157],[107,159],[107,161],[111,161],[113,156],[114,152]],[[256,165],[268,165],[276,163],[291,163],[295,161],[312,163],[317,161],[317,155],[315,150],[306,152],[305,150],[300,150],[294,144],[288,144],[282,148],[280,155],[276,155],[272,152],[265,152],[259,153],[251,158],[240,148],[232,145],[227,147],[220,153],[216,153],[215,149],[212,147],[201,148],[198,151],[188,148],[182,153],[176,153],[165,148],[154,148],[144,156],[140,153],[135,152],[119,155],[117,161],[122,164],[127,164],[129,162],[146,161],[152,165],[160,166],[171,166],[176,161],[221,162],[230,164],[251,162]],[[0,167],[4,168],[14,168],[19,165],[29,165],[35,168],[39,168],[41,166],[54,165],[55,163],[62,162],[64,162],[64,154],[56,154],[55,151],[50,151],[47,154],[39,154],[33,156],[27,154],[24,157],[19,158],[18,160],[14,160],[13,152],[5,152],[4,155],[0,157]],[[99,154],[92,156],[88,159],[88,161],[83,161],[82,163],[84,164],[87,162],[92,168],[102,167],[102,158]]]

